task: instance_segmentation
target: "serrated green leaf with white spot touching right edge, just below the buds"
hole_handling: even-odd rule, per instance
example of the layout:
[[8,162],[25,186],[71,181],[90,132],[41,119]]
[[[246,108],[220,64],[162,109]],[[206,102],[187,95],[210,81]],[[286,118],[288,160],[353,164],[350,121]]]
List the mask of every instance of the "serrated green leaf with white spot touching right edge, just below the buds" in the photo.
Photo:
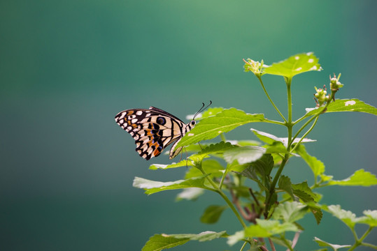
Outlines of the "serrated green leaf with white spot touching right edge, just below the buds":
[[[320,107],[321,108],[321,107]],[[365,112],[377,115],[377,108],[364,103],[357,98],[339,99],[330,102],[326,112]],[[318,113],[318,108],[306,108],[305,117]]]

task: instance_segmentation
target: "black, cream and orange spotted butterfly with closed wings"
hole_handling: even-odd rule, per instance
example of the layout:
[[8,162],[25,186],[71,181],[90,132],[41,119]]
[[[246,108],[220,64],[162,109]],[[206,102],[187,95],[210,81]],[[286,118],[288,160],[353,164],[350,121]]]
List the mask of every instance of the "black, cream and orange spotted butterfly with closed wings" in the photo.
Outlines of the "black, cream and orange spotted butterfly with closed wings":
[[[211,104],[212,101],[210,101],[209,105]],[[176,150],[174,148],[179,140],[194,128],[196,124],[196,121],[194,121],[195,116],[206,109],[203,109],[203,107],[204,103],[194,115],[192,121],[187,124],[176,116],[169,114],[169,112],[156,107],[127,109],[115,116],[115,122],[135,139],[136,152],[146,160],[157,157],[164,151],[166,146],[175,142],[171,146],[169,153],[169,158],[172,159],[182,150],[182,147],[178,147]]]

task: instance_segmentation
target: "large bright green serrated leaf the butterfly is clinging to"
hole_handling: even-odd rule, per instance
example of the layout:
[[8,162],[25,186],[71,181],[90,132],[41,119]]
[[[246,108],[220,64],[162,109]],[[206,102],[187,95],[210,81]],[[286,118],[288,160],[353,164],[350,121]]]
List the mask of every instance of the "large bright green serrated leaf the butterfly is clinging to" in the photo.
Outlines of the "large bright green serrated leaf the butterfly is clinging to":
[[222,112],[215,114],[215,116],[201,119],[197,126],[180,139],[176,149],[202,140],[213,139],[220,133],[229,132],[246,123],[261,121],[264,121],[263,114],[246,114],[246,112],[235,108],[224,109]]

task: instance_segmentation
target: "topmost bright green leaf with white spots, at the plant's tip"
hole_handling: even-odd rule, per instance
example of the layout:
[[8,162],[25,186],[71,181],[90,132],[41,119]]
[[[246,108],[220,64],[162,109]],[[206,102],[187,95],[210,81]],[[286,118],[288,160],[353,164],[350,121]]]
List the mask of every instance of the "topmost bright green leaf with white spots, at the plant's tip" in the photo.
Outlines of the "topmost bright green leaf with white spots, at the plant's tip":
[[272,66],[264,68],[263,74],[279,75],[292,78],[294,75],[305,73],[311,70],[320,71],[322,68],[318,63],[318,58],[313,52],[296,54],[290,58],[273,63]]

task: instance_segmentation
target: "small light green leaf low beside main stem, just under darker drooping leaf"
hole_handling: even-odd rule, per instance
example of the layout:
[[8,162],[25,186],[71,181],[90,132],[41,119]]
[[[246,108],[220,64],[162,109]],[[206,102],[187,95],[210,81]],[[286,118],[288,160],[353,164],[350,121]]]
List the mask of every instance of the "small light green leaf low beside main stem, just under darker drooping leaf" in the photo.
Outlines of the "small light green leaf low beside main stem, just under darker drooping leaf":
[[283,220],[284,222],[296,222],[304,217],[307,212],[307,206],[297,201],[285,201],[280,203],[273,213],[273,218]]

